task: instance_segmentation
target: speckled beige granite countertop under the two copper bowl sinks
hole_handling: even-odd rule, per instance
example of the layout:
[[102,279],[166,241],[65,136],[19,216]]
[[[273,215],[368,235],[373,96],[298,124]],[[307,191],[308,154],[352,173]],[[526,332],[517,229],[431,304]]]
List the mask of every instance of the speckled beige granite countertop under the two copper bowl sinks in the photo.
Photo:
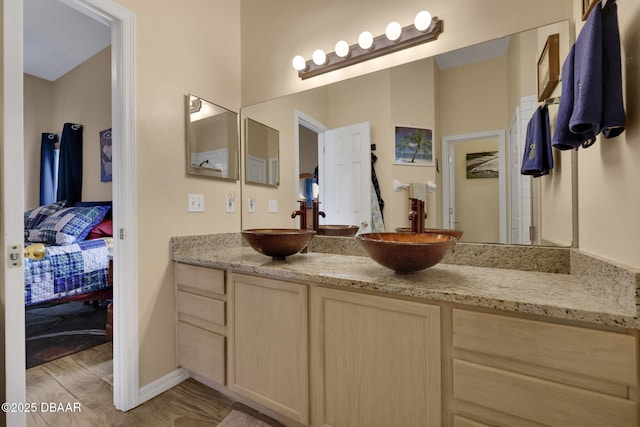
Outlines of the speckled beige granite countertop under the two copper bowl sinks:
[[[441,263],[427,270],[399,275],[366,256],[343,253],[310,251],[284,261],[273,261],[241,246],[238,239],[239,235],[221,235],[214,244],[206,237],[174,238],[172,258],[188,264],[300,283],[640,329],[636,306],[639,274],[606,263],[601,267],[608,268],[606,275],[600,276],[584,267],[597,263],[585,260],[578,261],[576,266],[582,274]],[[571,258],[573,268],[573,253]]]

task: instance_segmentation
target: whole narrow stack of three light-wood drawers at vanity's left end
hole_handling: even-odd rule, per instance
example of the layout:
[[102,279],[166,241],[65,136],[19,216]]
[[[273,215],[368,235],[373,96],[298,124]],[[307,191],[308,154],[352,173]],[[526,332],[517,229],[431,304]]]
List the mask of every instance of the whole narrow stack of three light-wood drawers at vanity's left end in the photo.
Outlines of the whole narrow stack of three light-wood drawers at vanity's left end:
[[225,272],[175,265],[178,364],[207,381],[225,384]]

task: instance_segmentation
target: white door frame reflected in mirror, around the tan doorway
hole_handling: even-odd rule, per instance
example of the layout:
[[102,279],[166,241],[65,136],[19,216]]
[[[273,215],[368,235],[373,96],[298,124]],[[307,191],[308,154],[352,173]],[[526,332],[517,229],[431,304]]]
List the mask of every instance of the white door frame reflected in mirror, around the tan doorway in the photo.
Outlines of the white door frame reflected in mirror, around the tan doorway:
[[507,243],[507,159],[504,130],[484,131],[442,137],[442,224],[454,228],[455,224],[455,152],[453,144],[478,139],[498,139],[498,194],[500,210],[500,243]]

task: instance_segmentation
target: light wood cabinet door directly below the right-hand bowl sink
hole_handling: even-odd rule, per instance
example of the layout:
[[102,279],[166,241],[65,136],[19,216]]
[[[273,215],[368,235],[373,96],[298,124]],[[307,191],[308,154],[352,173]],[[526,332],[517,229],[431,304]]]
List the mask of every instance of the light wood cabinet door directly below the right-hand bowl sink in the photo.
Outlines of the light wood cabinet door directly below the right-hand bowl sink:
[[440,308],[310,292],[313,425],[439,427]]

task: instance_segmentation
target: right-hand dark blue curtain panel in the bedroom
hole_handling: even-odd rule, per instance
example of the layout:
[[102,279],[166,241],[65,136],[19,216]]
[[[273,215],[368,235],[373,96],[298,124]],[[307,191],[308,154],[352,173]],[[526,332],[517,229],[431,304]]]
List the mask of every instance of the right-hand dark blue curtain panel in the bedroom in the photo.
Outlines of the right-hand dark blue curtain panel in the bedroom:
[[82,200],[82,125],[65,123],[60,141],[58,200],[67,206]]

